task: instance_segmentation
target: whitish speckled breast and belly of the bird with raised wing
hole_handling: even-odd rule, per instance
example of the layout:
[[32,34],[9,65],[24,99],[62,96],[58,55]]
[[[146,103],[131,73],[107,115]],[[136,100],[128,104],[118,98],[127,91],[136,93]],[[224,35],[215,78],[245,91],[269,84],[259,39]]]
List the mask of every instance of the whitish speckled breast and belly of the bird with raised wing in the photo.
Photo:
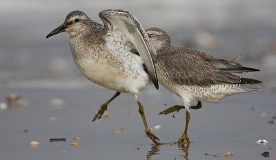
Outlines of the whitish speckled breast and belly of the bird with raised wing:
[[149,81],[143,61],[130,52],[130,46],[111,38],[101,47],[70,43],[77,67],[85,77],[100,86],[118,92],[139,93]]

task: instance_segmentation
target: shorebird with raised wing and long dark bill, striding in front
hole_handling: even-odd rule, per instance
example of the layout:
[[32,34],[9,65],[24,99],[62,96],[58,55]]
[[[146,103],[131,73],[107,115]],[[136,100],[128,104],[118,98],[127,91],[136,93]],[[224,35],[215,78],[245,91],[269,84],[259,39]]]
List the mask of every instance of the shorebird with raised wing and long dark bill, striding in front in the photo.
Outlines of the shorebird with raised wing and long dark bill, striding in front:
[[[148,34],[139,21],[124,10],[103,10],[99,17],[104,26],[92,21],[84,12],[70,12],[64,23],[52,30],[46,38],[60,32],[70,34],[72,57],[81,73],[100,86],[117,91],[101,105],[92,121],[100,119],[108,103],[121,92],[132,94],[139,106],[146,134],[155,143],[158,137],[146,122],[144,108],[138,94],[152,81],[158,81],[151,55],[156,54],[148,42]],[[137,50],[137,52],[132,52]],[[146,67],[146,68],[145,68]]]

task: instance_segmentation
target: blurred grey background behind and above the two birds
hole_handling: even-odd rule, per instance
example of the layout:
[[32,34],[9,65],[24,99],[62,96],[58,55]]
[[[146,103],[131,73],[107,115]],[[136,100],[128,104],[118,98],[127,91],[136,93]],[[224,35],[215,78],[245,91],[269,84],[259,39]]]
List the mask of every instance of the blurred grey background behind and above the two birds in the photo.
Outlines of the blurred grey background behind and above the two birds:
[[[1,1],[0,88],[81,88],[83,79],[72,61],[69,35],[46,34],[66,14],[82,10],[101,22],[98,13],[121,8],[135,14],[144,28],[166,30],[176,46],[259,68],[253,78],[264,90],[276,88],[276,1],[274,0],[153,0],[153,1]],[[249,74],[251,77],[252,75]],[[62,83],[61,83],[62,82]]]

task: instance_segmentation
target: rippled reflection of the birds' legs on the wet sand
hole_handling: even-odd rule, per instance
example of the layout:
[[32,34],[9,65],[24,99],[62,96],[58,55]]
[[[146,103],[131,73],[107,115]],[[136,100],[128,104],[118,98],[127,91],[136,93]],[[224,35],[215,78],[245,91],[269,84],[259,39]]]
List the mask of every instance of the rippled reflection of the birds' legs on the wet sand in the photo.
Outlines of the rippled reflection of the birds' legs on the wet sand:
[[151,150],[148,151],[148,154],[146,154],[146,160],[152,160],[153,156],[158,155],[161,147],[168,147],[168,146],[172,146],[172,145],[176,145],[176,144],[178,145],[179,150],[182,150],[184,152],[184,155],[181,155],[180,157],[184,157],[184,159],[188,160],[188,152],[189,152],[189,148],[190,148],[190,143],[179,144],[177,142],[162,143],[159,145],[152,146]]

